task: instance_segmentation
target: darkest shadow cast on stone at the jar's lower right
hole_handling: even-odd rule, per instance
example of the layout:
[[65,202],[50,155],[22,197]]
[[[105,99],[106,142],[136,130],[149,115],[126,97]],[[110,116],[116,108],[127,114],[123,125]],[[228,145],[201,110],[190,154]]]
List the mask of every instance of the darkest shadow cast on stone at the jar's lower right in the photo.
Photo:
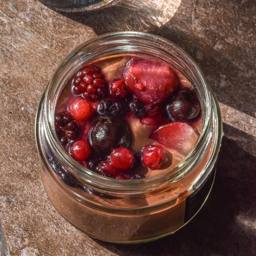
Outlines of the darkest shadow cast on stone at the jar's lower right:
[[[227,129],[229,133],[243,133],[224,124],[224,132]],[[249,223],[256,217],[256,180],[251,172],[255,164],[254,156],[236,141],[223,137],[211,194],[190,223],[174,234],[145,244],[94,241],[117,255],[252,255],[255,233]]]

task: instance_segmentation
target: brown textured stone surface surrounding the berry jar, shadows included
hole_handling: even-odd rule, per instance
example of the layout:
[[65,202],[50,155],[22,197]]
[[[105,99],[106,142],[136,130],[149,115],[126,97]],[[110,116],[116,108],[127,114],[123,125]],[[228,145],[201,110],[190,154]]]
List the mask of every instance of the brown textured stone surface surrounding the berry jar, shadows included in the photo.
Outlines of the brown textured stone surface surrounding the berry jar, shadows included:
[[[114,0],[58,13],[0,0],[0,219],[12,255],[255,255],[255,6],[253,1]],[[86,236],[50,203],[40,180],[34,119],[58,63],[106,32],[138,30],[193,56],[220,101],[224,133],[216,183],[187,226],[156,242],[113,245]]]

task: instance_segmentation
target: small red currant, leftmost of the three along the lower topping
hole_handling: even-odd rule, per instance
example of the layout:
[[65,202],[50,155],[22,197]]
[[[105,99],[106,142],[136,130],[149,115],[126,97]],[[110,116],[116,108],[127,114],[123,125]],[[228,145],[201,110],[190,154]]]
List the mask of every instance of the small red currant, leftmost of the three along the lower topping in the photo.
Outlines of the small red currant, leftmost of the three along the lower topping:
[[88,142],[78,140],[70,147],[71,156],[77,161],[86,160],[91,154],[91,148]]

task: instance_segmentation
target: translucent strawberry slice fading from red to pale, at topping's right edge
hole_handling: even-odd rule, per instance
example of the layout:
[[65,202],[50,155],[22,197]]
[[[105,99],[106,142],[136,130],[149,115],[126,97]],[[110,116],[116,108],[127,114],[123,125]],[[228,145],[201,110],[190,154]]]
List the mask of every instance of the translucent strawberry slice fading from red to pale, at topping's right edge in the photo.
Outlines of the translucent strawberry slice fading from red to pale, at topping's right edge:
[[187,123],[173,122],[160,126],[151,138],[186,156],[196,145],[198,135]]

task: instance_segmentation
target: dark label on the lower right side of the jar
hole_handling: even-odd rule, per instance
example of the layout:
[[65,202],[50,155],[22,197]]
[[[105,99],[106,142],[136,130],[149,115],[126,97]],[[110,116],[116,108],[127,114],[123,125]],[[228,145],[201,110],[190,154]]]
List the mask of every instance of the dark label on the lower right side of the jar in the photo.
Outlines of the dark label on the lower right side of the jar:
[[216,166],[211,170],[202,185],[186,198],[184,223],[189,221],[200,209],[207,197],[216,173]]

